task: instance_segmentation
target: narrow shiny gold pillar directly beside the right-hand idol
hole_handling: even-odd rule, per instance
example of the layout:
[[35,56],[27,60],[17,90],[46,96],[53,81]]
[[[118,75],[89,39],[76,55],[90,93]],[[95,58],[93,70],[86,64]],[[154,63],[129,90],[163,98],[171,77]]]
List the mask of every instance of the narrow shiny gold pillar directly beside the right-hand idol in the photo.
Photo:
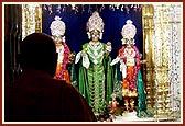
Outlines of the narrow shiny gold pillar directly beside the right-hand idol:
[[146,4],[142,7],[142,23],[143,23],[143,59],[146,59],[146,64],[143,66],[143,81],[145,83],[146,91],[146,105],[148,108],[153,108],[154,106],[154,62],[153,57],[153,35],[154,35],[154,25],[153,25],[153,13],[154,7]]

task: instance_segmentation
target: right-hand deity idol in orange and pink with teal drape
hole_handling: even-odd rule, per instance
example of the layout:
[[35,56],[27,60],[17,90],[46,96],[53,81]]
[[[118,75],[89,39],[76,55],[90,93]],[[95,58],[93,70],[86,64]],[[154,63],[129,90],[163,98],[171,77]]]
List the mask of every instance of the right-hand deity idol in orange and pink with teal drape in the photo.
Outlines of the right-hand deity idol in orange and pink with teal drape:
[[137,46],[134,46],[134,36],[137,33],[135,26],[131,20],[122,27],[122,48],[119,49],[118,56],[112,60],[111,66],[120,64],[120,71],[122,73],[122,98],[127,111],[134,111],[134,101],[138,99],[138,115],[141,111],[146,111],[145,93],[140,71],[141,54]]

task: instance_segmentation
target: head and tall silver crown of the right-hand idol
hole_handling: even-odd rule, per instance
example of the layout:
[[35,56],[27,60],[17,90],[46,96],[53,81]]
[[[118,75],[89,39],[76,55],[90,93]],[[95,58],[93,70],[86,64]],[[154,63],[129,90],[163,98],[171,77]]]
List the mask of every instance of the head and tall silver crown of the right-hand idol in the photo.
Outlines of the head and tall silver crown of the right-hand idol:
[[127,20],[127,24],[123,25],[121,35],[122,35],[122,44],[133,44],[134,45],[134,36],[137,34],[137,27],[132,24],[131,20]]

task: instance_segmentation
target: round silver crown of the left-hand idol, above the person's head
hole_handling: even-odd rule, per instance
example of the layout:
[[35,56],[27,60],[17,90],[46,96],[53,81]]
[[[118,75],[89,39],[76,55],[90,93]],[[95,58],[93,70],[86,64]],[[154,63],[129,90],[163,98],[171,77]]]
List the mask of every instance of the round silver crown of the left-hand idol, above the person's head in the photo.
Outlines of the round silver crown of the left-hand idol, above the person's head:
[[52,22],[50,28],[53,36],[63,36],[65,34],[65,23],[61,21],[62,18],[55,15],[55,21]]

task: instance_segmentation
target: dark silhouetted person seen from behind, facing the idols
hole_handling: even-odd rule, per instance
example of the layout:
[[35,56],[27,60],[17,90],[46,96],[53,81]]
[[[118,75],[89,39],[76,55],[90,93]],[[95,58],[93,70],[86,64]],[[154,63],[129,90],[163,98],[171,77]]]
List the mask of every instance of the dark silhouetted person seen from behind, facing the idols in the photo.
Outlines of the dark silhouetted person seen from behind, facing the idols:
[[80,93],[54,79],[57,54],[53,39],[33,33],[21,43],[22,75],[6,87],[6,122],[96,122]]

